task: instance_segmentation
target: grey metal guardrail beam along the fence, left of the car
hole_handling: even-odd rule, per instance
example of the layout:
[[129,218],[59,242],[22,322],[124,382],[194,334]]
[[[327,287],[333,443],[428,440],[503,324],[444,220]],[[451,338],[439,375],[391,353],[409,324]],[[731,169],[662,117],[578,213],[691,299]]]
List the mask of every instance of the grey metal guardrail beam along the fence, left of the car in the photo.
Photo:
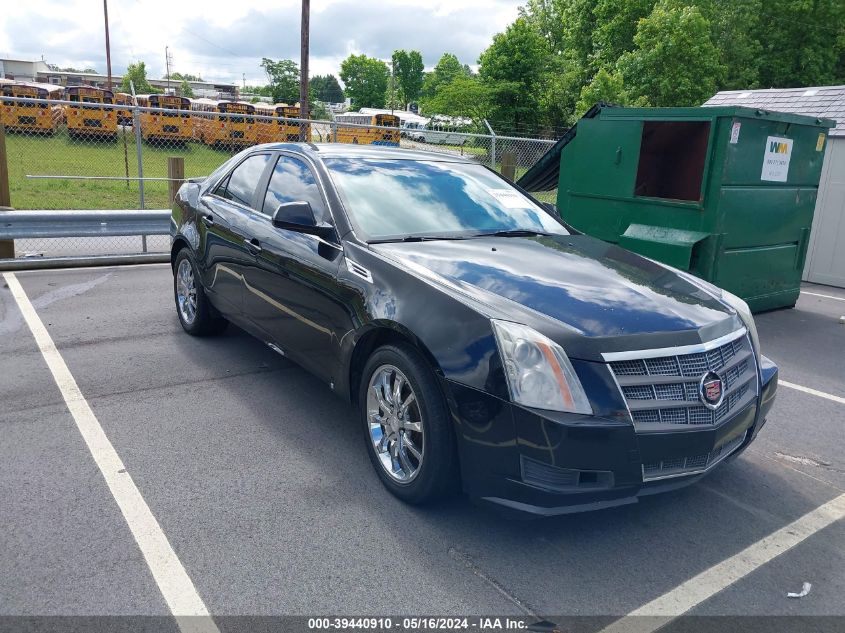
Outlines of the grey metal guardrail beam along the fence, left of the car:
[[0,211],[0,240],[167,235],[169,231],[168,209]]

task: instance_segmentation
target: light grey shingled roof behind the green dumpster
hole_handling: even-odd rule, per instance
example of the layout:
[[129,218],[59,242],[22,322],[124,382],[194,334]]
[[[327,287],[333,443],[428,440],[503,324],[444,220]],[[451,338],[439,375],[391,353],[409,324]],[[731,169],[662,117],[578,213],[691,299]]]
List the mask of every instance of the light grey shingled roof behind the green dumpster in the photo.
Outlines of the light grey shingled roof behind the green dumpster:
[[833,119],[836,127],[830,130],[830,136],[845,136],[845,86],[725,90],[704,105],[745,106]]

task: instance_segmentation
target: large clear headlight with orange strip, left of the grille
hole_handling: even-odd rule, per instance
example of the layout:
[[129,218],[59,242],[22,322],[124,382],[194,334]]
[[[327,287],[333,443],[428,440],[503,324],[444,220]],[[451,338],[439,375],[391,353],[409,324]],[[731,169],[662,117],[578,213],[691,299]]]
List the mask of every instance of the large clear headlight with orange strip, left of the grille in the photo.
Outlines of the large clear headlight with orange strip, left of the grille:
[[563,349],[528,326],[491,319],[511,399],[526,407],[592,414]]

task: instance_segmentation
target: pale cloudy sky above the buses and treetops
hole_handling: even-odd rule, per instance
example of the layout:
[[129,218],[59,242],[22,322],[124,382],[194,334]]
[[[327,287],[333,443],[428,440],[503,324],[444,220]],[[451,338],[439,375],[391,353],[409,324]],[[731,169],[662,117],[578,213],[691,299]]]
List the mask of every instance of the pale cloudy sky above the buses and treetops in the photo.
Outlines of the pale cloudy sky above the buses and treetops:
[[[524,0],[523,0],[524,1]],[[267,7],[266,5],[272,5]],[[315,0],[310,75],[337,75],[351,53],[388,61],[397,48],[419,50],[426,68],[444,52],[475,66],[493,35],[517,17],[517,0]],[[108,0],[112,72],[141,60],[150,78],[171,72],[248,85],[267,83],[262,57],[299,63],[298,0]],[[105,74],[99,0],[4,0],[0,57],[41,59]]]

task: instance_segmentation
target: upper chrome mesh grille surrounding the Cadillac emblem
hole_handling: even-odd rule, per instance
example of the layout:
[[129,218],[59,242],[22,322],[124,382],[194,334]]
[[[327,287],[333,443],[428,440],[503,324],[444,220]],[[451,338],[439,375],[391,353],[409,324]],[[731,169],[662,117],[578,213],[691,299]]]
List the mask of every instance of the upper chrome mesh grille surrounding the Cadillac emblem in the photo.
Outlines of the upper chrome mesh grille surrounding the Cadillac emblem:
[[[712,343],[605,357],[638,430],[721,424],[757,396],[756,364],[744,329]],[[722,378],[725,390],[715,410],[699,397],[701,380],[709,371]]]

